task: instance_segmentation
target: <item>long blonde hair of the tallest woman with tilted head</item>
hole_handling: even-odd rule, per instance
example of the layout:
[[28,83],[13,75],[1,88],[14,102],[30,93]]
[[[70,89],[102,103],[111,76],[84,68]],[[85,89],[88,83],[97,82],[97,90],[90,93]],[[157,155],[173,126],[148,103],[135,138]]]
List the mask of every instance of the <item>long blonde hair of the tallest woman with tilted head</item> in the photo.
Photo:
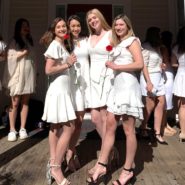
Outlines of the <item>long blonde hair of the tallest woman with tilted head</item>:
[[89,11],[87,12],[87,14],[86,14],[86,23],[87,23],[87,28],[88,28],[90,34],[93,34],[93,33],[95,32],[95,30],[92,29],[92,28],[89,26],[88,16],[89,16],[90,14],[94,14],[96,17],[99,18],[99,20],[100,20],[100,22],[101,22],[101,26],[102,26],[102,28],[103,28],[104,30],[108,31],[108,30],[111,29],[111,27],[109,26],[109,24],[108,24],[107,21],[105,20],[103,14],[102,14],[98,9],[94,8],[94,9],[89,10]]

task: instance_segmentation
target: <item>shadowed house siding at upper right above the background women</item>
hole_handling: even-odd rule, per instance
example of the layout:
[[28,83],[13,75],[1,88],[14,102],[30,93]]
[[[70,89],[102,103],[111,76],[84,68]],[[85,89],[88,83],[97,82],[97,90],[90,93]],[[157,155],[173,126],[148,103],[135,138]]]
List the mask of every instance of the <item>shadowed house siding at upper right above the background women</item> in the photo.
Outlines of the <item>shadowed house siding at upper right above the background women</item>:
[[134,30],[143,40],[146,29],[157,26],[161,30],[177,31],[176,0],[133,0],[131,18]]

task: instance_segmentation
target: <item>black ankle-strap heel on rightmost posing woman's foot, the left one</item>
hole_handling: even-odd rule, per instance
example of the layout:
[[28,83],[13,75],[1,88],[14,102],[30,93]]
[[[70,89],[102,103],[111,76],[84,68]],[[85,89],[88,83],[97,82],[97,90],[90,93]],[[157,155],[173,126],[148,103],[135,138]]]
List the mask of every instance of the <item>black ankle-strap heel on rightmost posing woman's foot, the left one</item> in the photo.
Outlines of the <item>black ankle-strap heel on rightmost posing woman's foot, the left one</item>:
[[98,162],[98,164],[101,165],[102,167],[104,167],[105,170],[103,172],[99,173],[96,179],[93,178],[93,175],[96,173],[96,170],[94,170],[93,175],[86,180],[87,183],[96,184],[100,181],[106,181],[105,178],[106,178],[106,174],[107,174],[107,164],[104,164],[104,163],[101,163],[101,162]]

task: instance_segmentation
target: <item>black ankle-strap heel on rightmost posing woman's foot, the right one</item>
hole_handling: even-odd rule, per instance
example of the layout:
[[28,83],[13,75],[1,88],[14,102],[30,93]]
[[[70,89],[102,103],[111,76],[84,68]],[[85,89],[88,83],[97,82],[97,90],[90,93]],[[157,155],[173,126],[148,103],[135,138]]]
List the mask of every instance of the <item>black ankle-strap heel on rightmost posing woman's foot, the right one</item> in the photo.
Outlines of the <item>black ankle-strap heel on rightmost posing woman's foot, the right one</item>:
[[[115,181],[112,182],[113,185],[127,185],[127,184],[129,184],[132,181],[132,179],[134,178],[133,168],[131,168],[131,169],[123,168],[123,170],[125,172],[122,171],[122,173],[124,173],[129,178],[126,179],[124,182],[121,182],[121,180],[120,180],[121,178],[119,178],[119,179],[117,179],[117,180],[115,180]],[[131,173],[132,173],[132,175],[131,175]],[[121,175],[120,175],[120,177],[121,177]]]

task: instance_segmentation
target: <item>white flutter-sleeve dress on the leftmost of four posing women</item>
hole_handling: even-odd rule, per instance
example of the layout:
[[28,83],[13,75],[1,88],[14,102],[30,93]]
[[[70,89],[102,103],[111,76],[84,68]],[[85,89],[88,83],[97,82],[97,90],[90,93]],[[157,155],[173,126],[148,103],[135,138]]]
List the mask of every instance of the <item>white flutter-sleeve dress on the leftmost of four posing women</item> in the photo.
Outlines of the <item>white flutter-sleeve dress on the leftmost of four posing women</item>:
[[[56,62],[64,62],[69,56],[56,40],[51,42],[44,55],[46,58],[55,59]],[[42,120],[49,123],[65,123],[74,120],[76,115],[72,102],[69,70],[50,76],[50,80]]]

